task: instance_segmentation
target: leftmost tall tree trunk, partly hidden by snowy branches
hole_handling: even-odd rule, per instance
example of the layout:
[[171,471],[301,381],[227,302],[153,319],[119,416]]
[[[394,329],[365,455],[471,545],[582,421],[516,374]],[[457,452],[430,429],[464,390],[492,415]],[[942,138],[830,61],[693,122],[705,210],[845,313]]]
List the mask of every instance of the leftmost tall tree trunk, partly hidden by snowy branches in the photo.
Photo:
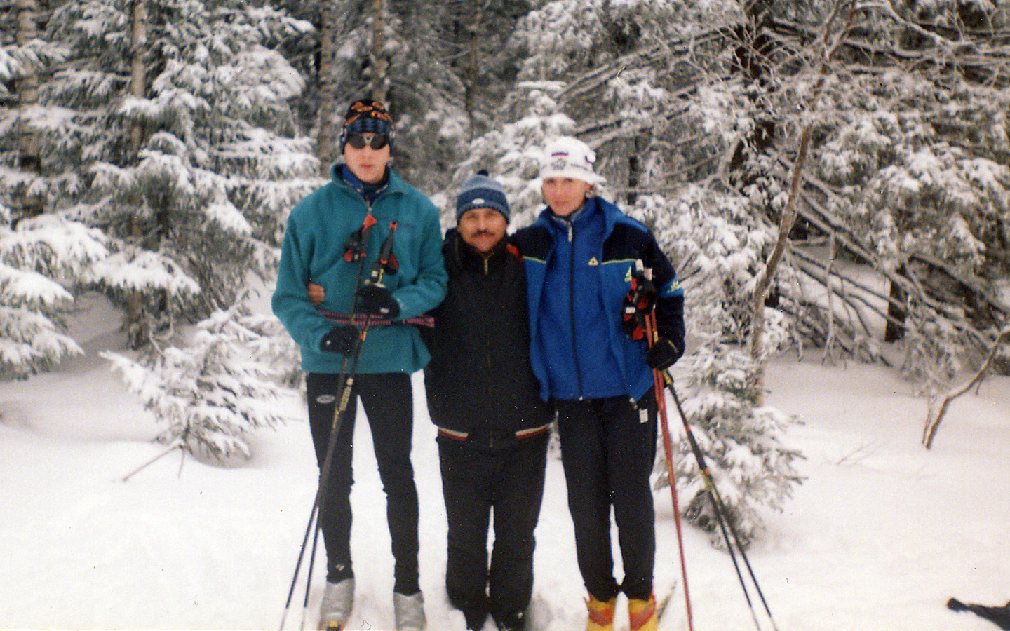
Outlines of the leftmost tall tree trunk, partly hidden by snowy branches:
[[[38,2],[37,0],[17,0],[17,45],[27,45],[38,36]],[[17,80],[17,100],[21,112],[38,101],[38,74],[33,65],[28,65],[30,71]],[[17,121],[18,167],[33,175],[41,175],[41,153],[38,134],[31,129],[27,117],[21,116]],[[24,187],[21,196],[21,217],[33,217],[42,213],[43,201],[39,196],[28,193],[29,187]]]

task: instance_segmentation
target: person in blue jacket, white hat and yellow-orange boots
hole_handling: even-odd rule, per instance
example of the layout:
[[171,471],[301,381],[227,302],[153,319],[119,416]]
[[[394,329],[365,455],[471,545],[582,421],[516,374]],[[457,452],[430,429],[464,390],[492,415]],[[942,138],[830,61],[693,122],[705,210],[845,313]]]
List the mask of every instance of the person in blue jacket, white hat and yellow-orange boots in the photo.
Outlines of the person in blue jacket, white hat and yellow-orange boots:
[[[684,293],[655,239],[595,195],[593,151],[575,138],[547,145],[540,170],[547,208],[514,240],[529,302],[530,361],[558,410],[579,569],[590,631],[613,628],[618,593],[632,631],[655,629],[655,556],[649,475],[655,457],[653,367],[684,352]],[[621,325],[635,261],[653,273],[660,339],[646,349]],[[662,393],[660,393],[662,395]],[[624,579],[613,575],[613,509]]]

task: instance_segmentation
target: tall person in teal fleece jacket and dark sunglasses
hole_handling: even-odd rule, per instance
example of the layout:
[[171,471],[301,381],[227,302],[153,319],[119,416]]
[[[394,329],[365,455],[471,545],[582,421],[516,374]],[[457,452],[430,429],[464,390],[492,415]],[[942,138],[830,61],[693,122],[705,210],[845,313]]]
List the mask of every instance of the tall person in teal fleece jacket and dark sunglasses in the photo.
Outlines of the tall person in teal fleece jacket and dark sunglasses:
[[[410,462],[410,374],[424,367],[428,352],[416,328],[404,321],[430,311],[442,301],[446,274],[438,211],[388,166],[392,132],[392,119],[381,104],[371,100],[351,104],[340,133],[345,164],[334,165],[330,182],[292,210],[273,296],[274,313],[301,348],[302,370],[307,374],[309,425],[320,468],[341,386],[341,366],[360,338],[355,326],[358,318],[351,321],[349,317],[374,316],[362,342],[351,398],[337,434],[330,476],[325,481],[326,493],[319,507],[327,554],[323,628],[345,624],[354,601],[349,498],[358,398],[372,429],[387,496],[396,562],[396,628],[424,628],[417,569],[417,490]],[[370,216],[374,223],[371,218],[366,222]],[[367,241],[363,280],[394,224],[392,251],[397,270],[387,273],[381,285],[366,287],[356,296],[361,261],[345,257],[346,245],[356,232],[369,224],[369,234],[361,239]],[[325,292],[318,307],[306,293],[310,282]]]

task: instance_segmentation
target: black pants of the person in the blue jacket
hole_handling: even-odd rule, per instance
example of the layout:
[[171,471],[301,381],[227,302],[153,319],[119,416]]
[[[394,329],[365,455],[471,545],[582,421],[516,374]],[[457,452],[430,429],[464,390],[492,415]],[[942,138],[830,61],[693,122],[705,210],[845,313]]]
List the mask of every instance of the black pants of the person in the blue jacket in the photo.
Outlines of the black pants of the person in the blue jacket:
[[[638,406],[627,397],[556,401],[569,511],[586,589],[607,601],[652,593],[655,524],[649,476],[655,459],[656,408],[650,390]],[[617,524],[624,581],[614,580],[610,509]]]

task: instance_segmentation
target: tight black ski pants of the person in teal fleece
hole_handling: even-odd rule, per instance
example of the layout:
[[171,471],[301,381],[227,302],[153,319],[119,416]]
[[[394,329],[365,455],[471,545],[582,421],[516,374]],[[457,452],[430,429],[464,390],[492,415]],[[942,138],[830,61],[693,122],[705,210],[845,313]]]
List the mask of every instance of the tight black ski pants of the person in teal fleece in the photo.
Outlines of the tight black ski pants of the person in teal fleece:
[[[326,456],[333,410],[339,391],[339,376],[310,374],[306,378],[309,425],[320,470]],[[326,580],[336,583],[354,575],[350,564],[350,485],[352,437],[357,398],[372,428],[372,441],[379,464],[379,477],[386,492],[386,518],[396,561],[394,591],[416,594],[417,572],[417,488],[410,463],[413,432],[413,399],[410,376],[358,375],[346,412],[340,423],[333,449],[329,480],[319,511],[326,546]]]

